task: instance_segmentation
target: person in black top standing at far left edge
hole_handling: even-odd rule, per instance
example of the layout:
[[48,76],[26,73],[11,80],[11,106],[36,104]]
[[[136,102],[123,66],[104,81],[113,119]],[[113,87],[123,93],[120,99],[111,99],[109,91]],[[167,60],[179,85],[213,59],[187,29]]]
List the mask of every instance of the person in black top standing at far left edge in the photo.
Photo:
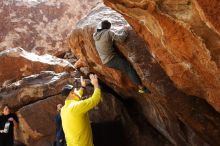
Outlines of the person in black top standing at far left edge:
[[0,115],[0,146],[14,145],[14,127],[18,127],[18,117],[11,113],[8,105],[2,105]]

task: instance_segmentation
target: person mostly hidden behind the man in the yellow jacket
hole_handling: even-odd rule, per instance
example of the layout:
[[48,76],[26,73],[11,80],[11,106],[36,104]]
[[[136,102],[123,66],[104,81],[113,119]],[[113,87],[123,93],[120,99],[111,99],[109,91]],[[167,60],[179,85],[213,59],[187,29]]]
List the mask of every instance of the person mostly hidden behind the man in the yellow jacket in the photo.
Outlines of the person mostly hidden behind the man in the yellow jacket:
[[60,110],[62,108],[62,104],[57,105],[57,115],[55,117],[56,122],[56,146],[66,146],[65,135],[63,132],[62,121],[60,117]]

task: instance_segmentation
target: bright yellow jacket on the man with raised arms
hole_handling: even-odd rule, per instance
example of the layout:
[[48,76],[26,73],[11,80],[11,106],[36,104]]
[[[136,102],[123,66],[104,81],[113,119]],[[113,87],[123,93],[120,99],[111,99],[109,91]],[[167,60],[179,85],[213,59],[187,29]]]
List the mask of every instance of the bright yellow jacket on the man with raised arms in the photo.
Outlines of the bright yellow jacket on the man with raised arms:
[[[83,90],[79,94],[82,96]],[[66,100],[61,109],[62,126],[67,146],[93,146],[92,129],[88,111],[101,99],[101,90],[96,88],[92,97],[85,100]]]

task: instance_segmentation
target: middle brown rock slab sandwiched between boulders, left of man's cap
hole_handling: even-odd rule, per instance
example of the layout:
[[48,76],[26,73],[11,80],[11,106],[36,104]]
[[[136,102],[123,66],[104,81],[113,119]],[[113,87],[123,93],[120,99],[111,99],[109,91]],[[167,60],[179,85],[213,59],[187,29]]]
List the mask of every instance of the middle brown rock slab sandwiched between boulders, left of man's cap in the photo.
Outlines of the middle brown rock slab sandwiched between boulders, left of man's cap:
[[0,90],[0,103],[9,104],[12,109],[20,109],[44,98],[60,94],[62,87],[73,83],[66,73],[41,72],[23,78]]

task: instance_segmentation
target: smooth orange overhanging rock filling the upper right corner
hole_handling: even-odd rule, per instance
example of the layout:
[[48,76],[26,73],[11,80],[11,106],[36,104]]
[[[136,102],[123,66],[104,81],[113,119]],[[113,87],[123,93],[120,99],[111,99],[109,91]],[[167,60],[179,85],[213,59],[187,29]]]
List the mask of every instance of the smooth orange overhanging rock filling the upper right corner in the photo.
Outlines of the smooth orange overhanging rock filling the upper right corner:
[[179,89],[220,112],[219,1],[105,3],[126,17]]

